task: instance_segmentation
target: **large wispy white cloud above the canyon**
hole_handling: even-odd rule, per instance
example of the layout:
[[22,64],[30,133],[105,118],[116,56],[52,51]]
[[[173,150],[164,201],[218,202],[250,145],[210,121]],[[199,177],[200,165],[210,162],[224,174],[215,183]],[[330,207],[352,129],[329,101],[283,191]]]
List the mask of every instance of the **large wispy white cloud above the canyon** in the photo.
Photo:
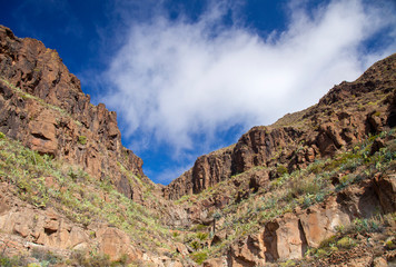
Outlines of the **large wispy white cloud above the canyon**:
[[184,151],[197,147],[196,135],[210,146],[217,130],[268,125],[394,52],[395,32],[377,51],[364,46],[386,27],[396,29],[388,9],[352,0],[308,12],[297,3],[289,4],[287,30],[265,38],[222,27],[221,4],[198,21],[159,16],[131,24],[105,73],[113,86],[105,101],[121,113],[126,134],[140,139],[133,149],[155,138]]

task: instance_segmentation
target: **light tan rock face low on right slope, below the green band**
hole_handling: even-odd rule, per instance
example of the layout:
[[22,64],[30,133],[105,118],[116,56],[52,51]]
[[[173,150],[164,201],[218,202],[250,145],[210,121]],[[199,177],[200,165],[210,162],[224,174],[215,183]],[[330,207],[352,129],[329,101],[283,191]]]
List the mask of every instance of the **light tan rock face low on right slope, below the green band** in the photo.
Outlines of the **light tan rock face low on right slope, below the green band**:
[[[335,235],[336,228],[350,224],[353,218],[370,218],[378,211],[394,212],[388,204],[382,204],[382,191],[396,194],[388,182],[396,182],[394,176],[378,177],[329,197],[325,202],[308,209],[296,209],[273,221],[266,222],[255,235],[234,244],[228,251],[228,266],[260,266],[277,260],[304,257],[308,247],[317,248],[320,241]],[[380,188],[379,188],[380,187]],[[394,204],[394,202],[393,202]],[[380,207],[382,210],[378,210]]]

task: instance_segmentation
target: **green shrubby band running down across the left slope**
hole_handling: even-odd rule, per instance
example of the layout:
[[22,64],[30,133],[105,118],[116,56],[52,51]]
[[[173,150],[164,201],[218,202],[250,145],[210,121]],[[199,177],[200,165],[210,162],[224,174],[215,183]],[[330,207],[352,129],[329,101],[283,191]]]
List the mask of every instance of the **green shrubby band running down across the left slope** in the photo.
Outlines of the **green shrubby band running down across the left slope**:
[[39,155],[7,137],[0,139],[0,180],[13,185],[22,200],[38,208],[52,207],[83,226],[108,221],[143,247],[165,246],[170,237],[154,210],[130,201],[107,180],[97,180],[79,167]]

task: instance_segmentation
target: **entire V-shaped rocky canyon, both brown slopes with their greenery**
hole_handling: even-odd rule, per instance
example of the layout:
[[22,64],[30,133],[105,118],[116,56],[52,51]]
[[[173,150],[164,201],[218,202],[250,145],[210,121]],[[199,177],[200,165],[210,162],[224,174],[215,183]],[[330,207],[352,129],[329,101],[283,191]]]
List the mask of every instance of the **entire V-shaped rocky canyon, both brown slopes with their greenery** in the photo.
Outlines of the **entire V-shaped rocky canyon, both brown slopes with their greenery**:
[[386,266],[396,55],[167,187],[55,50],[0,27],[0,265]]

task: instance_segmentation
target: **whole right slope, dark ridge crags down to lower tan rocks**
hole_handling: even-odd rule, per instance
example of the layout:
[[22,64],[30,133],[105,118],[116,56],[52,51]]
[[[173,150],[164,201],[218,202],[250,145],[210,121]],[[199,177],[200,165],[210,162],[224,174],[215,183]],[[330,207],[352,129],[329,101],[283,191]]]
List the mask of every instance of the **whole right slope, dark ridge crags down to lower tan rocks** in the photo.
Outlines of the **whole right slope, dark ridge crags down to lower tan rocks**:
[[393,55],[317,105],[199,157],[162,190],[189,214],[192,258],[210,258],[204,266],[393,263],[395,108]]

